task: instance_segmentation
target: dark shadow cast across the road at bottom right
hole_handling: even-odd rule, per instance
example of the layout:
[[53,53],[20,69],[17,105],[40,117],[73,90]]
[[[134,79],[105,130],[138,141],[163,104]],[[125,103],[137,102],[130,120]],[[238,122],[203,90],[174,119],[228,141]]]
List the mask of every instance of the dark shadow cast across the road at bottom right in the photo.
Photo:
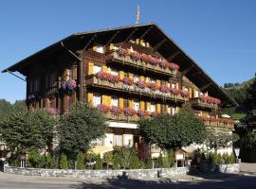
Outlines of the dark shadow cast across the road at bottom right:
[[200,188],[232,188],[232,189],[255,189],[256,177],[246,177],[246,176],[229,176],[227,175],[222,178],[211,177],[208,180],[171,180],[171,179],[161,179],[161,180],[131,180],[131,179],[111,179],[104,180],[99,183],[92,183],[91,181],[80,182],[79,184],[72,184],[70,188],[148,188],[148,189],[161,189],[161,188],[190,188],[190,189],[200,189]]

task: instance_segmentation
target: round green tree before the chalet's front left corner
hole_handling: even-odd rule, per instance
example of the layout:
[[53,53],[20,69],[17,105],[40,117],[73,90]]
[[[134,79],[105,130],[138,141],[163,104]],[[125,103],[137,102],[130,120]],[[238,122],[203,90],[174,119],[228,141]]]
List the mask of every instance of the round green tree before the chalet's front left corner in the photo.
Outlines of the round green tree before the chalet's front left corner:
[[106,126],[106,119],[101,112],[85,102],[77,102],[60,119],[60,146],[76,157],[79,151],[90,148],[91,141],[105,133]]

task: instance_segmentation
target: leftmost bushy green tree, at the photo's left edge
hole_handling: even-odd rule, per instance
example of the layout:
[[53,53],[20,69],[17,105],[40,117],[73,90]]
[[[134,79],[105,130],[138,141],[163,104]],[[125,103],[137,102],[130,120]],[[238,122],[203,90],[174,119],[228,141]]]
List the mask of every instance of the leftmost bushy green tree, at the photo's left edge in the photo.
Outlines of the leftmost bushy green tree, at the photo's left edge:
[[12,112],[0,122],[2,139],[11,151],[26,153],[52,142],[56,119],[47,112]]

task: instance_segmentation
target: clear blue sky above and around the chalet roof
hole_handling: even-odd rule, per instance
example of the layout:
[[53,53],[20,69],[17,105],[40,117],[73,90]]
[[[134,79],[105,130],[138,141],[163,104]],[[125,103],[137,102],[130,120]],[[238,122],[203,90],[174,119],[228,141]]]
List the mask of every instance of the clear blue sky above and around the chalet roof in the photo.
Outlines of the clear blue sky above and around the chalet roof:
[[[254,0],[6,0],[0,2],[0,70],[81,31],[155,22],[219,85],[256,72]],[[24,99],[26,84],[0,74],[0,99]]]

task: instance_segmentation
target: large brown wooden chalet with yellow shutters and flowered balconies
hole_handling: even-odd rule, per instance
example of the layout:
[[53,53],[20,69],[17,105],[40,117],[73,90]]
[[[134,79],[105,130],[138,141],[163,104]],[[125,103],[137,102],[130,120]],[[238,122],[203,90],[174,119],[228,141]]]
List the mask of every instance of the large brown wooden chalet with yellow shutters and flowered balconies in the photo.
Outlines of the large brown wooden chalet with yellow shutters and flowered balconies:
[[76,100],[105,112],[108,129],[94,150],[140,145],[137,120],[174,114],[185,104],[206,127],[233,129],[222,118],[233,101],[157,25],[82,32],[10,66],[27,79],[27,107],[64,113]]

